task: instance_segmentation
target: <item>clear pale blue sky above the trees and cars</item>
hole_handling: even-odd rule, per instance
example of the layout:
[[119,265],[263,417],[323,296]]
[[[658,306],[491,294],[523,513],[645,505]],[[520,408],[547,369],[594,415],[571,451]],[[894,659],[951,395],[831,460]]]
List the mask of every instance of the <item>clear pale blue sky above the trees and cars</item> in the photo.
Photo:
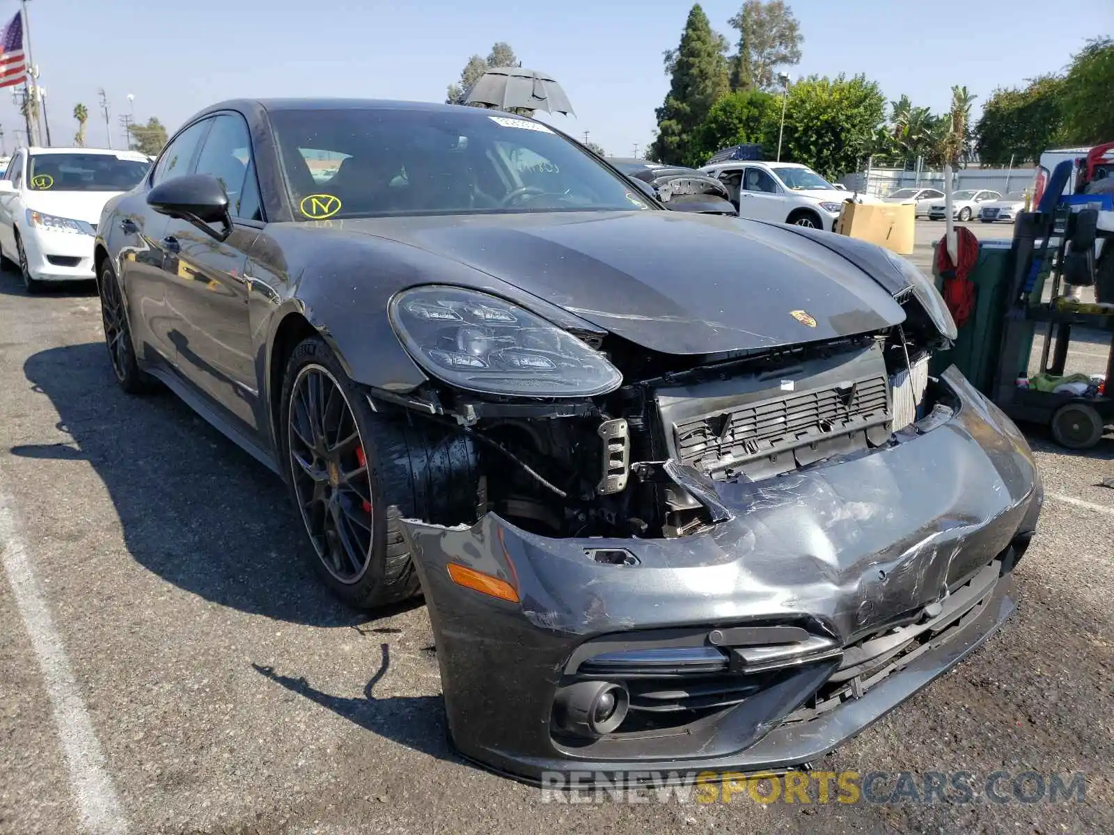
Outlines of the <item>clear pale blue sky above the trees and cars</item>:
[[[712,26],[741,0],[702,4]],[[1114,33],[1114,0],[1057,7],[1047,0],[792,0],[804,35],[793,75],[864,72],[889,99],[944,110],[952,84],[980,102],[999,85],[1061,69],[1087,37]],[[0,0],[10,19],[16,0]],[[74,106],[89,109],[88,144],[106,143],[97,89],[108,100],[111,144],[135,96],[137,120],[168,129],[235,96],[356,96],[441,101],[473,52],[511,45],[524,66],[565,87],[575,118],[554,125],[618,156],[653,138],[668,89],[662,52],[676,47],[691,3],[643,0],[31,0],[31,48],[47,91],[56,145],[70,141]],[[0,91],[8,153],[22,117]],[[1107,105],[1110,102],[1106,102]]]

